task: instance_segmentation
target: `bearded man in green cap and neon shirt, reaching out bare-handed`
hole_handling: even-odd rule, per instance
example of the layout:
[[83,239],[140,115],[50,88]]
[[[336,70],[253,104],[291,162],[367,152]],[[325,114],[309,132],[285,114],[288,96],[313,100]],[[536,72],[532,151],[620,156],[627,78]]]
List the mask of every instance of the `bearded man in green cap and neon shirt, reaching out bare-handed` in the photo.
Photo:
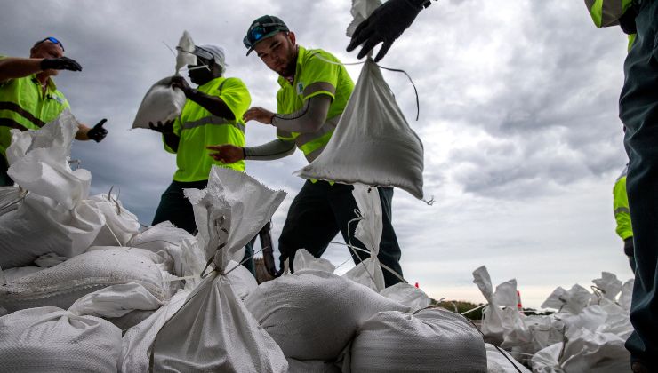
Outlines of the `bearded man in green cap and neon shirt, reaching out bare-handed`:
[[[283,20],[265,15],[252,22],[243,39],[249,54],[255,51],[269,69],[279,75],[277,112],[251,107],[245,121],[255,120],[277,128],[277,139],[260,147],[221,145],[209,147],[215,159],[226,163],[270,160],[291,155],[299,148],[307,161],[320,155],[331,139],[354,83],[347,69],[333,54],[321,49],[306,49],[296,44],[295,34]],[[378,258],[384,270],[386,286],[400,282],[400,247],[391,222],[392,187],[377,187],[382,210],[382,233]],[[324,180],[307,180],[295,196],[285,218],[278,248],[282,269],[286,259],[292,264],[298,249],[309,250],[319,258],[339,232],[345,242],[364,248],[354,236],[357,202],[353,187]],[[349,227],[348,227],[349,226]],[[356,263],[369,255],[352,253]],[[293,268],[293,266],[291,266]]]

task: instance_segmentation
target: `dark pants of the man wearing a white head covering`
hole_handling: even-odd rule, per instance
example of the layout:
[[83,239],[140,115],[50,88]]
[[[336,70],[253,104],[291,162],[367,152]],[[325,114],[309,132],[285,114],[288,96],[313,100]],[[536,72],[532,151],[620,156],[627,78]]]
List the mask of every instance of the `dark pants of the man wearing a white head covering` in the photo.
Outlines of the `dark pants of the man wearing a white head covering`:
[[[151,225],[155,226],[158,223],[169,220],[174,226],[185,229],[189,234],[196,234],[197,223],[194,220],[194,210],[192,209],[192,204],[185,198],[183,189],[205,189],[207,185],[208,180],[192,182],[173,180],[172,184],[169,185],[160,198],[160,204],[157,206],[156,216],[153,218]],[[245,245],[245,257],[242,259],[245,261],[247,258],[250,258],[243,263],[243,266],[254,276],[256,275],[256,271],[253,267],[253,258],[251,257],[253,256],[253,242],[255,238],[253,237],[252,241]]]

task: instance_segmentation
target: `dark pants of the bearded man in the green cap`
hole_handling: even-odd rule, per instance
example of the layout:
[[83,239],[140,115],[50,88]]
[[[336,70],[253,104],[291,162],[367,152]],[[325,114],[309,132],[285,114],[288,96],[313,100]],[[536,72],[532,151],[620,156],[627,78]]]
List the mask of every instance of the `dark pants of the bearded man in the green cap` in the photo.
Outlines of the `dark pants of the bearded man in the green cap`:
[[[377,189],[380,193],[383,218],[380,252],[377,258],[383,265],[389,266],[402,276],[402,268],[399,263],[400,246],[397,244],[397,237],[391,224],[393,188],[378,187]],[[292,268],[292,258],[298,249],[309,250],[311,254],[319,258],[338,232],[341,232],[346,243],[351,239],[353,246],[365,248],[363,243],[354,237],[357,222],[349,225],[348,232],[349,220],[357,218],[354,211],[358,209],[352,190],[352,186],[330,185],[326,181],[316,183],[306,181],[304,183],[288,210],[288,216],[285,218],[285,225],[278,240],[282,266],[286,258],[291,258]],[[361,251],[357,251],[357,255],[358,257],[352,252],[355,263],[360,263],[361,260],[370,257],[369,254]],[[400,282],[389,271],[384,269],[383,272],[387,287]]]

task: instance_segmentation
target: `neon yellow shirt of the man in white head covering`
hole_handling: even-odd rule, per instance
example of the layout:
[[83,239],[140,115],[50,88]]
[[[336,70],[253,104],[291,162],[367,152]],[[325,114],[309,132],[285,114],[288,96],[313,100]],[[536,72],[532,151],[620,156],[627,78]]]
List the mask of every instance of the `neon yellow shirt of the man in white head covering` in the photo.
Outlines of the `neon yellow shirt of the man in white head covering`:
[[219,163],[208,155],[210,151],[205,148],[218,144],[245,146],[245,121],[243,121],[242,115],[252,103],[245,83],[234,77],[221,76],[199,86],[197,90],[219,97],[226,103],[236,119],[229,121],[212,115],[204,107],[188,99],[181,115],[173,123],[173,133],[181,138],[178,151],[174,152],[164,143],[164,148],[168,152],[176,153],[178,170],[173,174],[173,179],[183,182],[207,180],[213,164],[245,171],[245,161]]

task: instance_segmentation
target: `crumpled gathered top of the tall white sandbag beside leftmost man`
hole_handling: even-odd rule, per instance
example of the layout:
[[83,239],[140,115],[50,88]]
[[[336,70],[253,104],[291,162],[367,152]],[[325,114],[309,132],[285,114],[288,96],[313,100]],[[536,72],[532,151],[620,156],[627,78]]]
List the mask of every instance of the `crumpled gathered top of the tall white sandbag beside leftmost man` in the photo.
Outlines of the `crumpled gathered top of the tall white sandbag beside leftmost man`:
[[30,193],[52,198],[65,210],[89,196],[92,182],[89,171],[73,171],[68,165],[77,125],[67,109],[39,131],[12,130],[12,145],[7,148],[7,174],[16,184]]

